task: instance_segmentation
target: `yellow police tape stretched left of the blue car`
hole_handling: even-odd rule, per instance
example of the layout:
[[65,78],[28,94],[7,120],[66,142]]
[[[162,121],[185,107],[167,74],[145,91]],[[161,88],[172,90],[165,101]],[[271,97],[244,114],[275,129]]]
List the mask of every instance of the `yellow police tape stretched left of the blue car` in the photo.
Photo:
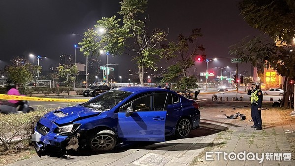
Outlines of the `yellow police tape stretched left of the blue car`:
[[87,102],[89,99],[56,99],[56,98],[42,98],[42,97],[0,94],[0,100],[28,100],[28,101],[46,101],[46,102]]

